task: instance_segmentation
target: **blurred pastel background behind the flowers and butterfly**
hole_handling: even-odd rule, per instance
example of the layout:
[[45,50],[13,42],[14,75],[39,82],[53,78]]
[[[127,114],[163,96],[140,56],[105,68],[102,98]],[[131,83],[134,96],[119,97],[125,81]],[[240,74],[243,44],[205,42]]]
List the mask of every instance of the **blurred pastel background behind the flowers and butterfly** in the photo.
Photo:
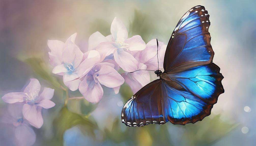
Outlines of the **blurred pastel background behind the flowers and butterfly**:
[[[82,99],[64,106],[66,93],[57,87],[61,77],[51,73],[48,39],[65,42],[77,32],[76,44],[85,52],[88,37],[95,31],[109,35],[116,16],[124,22],[129,36],[138,34],[146,43],[157,38],[167,44],[180,17],[196,5],[208,10],[213,61],[225,77],[225,93],[219,96],[209,117],[185,126],[166,123],[126,127],[120,113],[132,92],[125,84],[117,95],[104,88],[98,104]],[[52,101],[56,106],[43,110],[44,125],[34,128],[34,145],[255,145],[255,5],[256,1],[249,0],[0,0],[0,96],[20,91],[29,78],[55,89]],[[6,112],[6,106],[0,100],[0,115]],[[246,112],[245,106],[251,112]],[[0,145],[13,145],[8,128],[0,124],[0,131]]]

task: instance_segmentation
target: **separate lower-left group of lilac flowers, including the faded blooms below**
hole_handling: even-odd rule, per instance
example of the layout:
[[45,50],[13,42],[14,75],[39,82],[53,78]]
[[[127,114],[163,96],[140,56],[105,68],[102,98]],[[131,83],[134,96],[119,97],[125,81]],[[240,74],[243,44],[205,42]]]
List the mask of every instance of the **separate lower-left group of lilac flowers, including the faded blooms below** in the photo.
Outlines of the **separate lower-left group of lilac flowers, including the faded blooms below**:
[[10,104],[3,122],[15,127],[18,145],[32,145],[35,142],[36,135],[30,125],[41,128],[44,123],[42,108],[48,109],[55,106],[51,101],[54,89],[44,88],[39,94],[40,89],[39,81],[30,79],[23,92],[11,92],[2,97],[4,102]]

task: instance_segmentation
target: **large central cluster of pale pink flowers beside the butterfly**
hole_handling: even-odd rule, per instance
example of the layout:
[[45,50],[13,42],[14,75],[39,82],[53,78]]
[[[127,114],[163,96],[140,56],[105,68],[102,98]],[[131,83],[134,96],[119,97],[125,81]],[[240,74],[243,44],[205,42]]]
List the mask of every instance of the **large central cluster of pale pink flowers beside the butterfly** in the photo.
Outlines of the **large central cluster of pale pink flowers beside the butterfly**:
[[[86,100],[99,102],[103,97],[102,85],[113,88],[117,94],[124,81],[137,92],[150,82],[148,70],[158,69],[156,39],[147,44],[140,35],[128,38],[128,31],[121,20],[114,18],[111,34],[95,32],[89,37],[88,52],[82,53],[75,44],[77,33],[64,43],[48,40],[52,73],[63,76],[64,84],[72,91],[79,89]],[[159,67],[162,68],[166,45],[159,42]],[[125,73],[119,74],[122,68]],[[136,71],[140,70],[140,71]],[[134,73],[129,73],[133,72]]]

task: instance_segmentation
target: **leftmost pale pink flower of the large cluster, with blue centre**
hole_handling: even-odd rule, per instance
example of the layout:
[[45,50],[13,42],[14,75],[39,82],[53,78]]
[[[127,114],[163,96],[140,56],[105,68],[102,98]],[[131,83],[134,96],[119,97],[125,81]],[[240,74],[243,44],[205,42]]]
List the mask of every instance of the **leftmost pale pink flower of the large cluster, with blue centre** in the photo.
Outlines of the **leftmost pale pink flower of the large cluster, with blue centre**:
[[[75,37],[76,33],[71,35],[66,43],[60,43],[61,41],[57,40],[48,40],[48,46],[52,52],[58,52],[58,54],[60,54],[59,57],[54,58],[55,60],[60,61],[59,64],[55,64],[56,66],[52,70],[52,73],[62,75],[64,84],[71,91],[78,89],[81,78],[87,74],[87,72],[95,65],[95,63],[98,63],[100,60],[100,55],[95,50],[88,51],[83,54],[78,46],[74,44]],[[50,53],[49,57],[53,58],[50,56]]]

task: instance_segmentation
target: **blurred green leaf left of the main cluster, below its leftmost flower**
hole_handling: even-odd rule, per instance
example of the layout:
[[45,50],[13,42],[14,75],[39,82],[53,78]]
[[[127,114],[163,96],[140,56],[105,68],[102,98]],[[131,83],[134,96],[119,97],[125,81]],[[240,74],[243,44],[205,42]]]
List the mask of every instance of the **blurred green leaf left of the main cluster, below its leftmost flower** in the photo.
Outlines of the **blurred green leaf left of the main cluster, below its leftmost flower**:
[[49,83],[51,83],[55,88],[60,88],[58,80],[52,76],[51,71],[47,68],[46,64],[40,58],[28,58],[24,60],[25,63],[31,66],[34,74]]

